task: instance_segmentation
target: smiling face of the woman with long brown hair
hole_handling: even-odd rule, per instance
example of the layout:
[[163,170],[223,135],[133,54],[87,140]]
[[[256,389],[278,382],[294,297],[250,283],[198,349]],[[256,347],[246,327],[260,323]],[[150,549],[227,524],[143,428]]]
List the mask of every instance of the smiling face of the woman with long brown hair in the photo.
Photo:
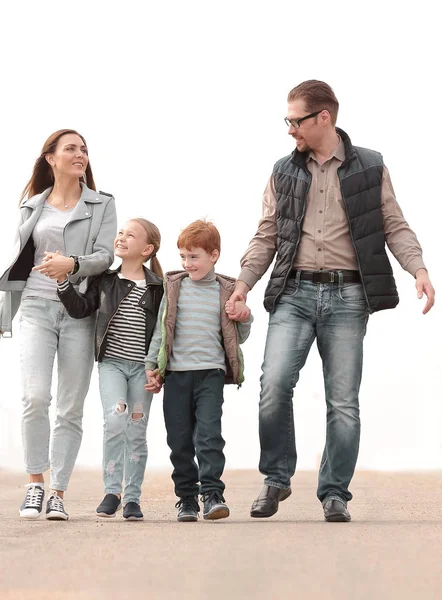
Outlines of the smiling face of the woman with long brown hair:
[[54,177],[83,177],[89,159],[87,148],[79,135],[67,133],[58,140],[55,152],[46,155]]

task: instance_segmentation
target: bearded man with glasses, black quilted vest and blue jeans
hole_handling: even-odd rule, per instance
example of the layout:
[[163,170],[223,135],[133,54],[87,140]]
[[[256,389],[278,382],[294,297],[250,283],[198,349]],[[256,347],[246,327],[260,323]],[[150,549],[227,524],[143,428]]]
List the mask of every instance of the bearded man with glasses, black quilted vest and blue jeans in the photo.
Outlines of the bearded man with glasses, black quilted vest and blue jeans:
[[261,377],[259,469],[266,478],[252,517],[270,517],[291,494],[296,468],[293,388],[316,339],[327,403],[317,496],[327,521],[350,521],[349,484],[359,449],[359,386],[368,315],[399,302],[385,242],[416,279],[423,310],[434,289],[422,250],[396,202],[378,152],[354,147],[335,127],[339,103],[329,85],[305,81],[288,96],[285,119],[295,151],[279,160],[263,217],[241,260],[233,302],[264,275],[276,253],[264,306],[270,312]]

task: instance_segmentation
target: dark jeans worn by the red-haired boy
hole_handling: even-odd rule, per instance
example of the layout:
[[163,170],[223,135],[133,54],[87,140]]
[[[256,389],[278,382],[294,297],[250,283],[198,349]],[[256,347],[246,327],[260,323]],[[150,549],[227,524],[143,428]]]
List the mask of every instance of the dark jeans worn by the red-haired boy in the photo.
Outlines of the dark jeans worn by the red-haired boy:
[[[164,382],[164,420],[171,449],[175,494],[197,496],[209,490],[222,494],[224,440],[221,416],[224,371],[168,371]],[[198,466],[195,463],[195,454]],[[201,486],[198,486],[198,481]]]

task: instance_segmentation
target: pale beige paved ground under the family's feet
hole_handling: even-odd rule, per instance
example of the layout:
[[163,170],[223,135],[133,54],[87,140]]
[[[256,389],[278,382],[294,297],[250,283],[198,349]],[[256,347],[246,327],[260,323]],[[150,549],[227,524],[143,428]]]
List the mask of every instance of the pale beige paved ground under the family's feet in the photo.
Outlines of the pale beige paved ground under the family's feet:
[[144,522],[99,519],[100,475],[76,471],[69,522],[23,522],[23,476],[0,472],[0,599],[442,598],[442,473],[358,473],[348,524],[323,522],[314,473],[264,520],[259,474],[225,480],[224,521],[177,523],[167,473],[148,473]]

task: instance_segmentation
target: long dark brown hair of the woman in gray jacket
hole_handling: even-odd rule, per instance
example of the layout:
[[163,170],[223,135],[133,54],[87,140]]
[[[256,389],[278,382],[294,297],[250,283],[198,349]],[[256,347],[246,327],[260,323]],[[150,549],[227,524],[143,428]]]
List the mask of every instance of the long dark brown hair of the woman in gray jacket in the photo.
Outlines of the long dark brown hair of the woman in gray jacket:
[[[86,140],[82,135],[74,129],[60,129],[48,137],[43,145],[40,156],[35,161],[34,169],[32,171],[31,179],[26,184],[25,189],[20,198],[20,204],[26,196],[32,198],[35,194],[41,194],[44,190],[54,184],[54,172],[51,165],[46,160],[47,154],[53,154],[57,148],[57,144],[63,135],[73,133],[78,135],[83,140],[84,145],[87,147]],[[88,161],[86,172],[81,178],[88,188],[96,190],[94,176],[92,175],[91,163]]]

